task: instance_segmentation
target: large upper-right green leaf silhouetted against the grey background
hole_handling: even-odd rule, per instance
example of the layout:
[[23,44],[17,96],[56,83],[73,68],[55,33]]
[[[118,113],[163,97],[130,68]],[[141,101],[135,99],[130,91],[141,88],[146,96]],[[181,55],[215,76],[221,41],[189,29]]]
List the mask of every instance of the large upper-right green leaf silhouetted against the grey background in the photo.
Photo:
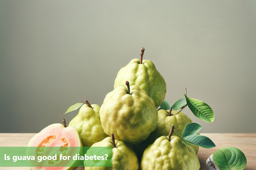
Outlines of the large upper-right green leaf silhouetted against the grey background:
[[188,98],[186,95],[185,98],[189,109],[195,114],[196,117],[205,122],[214,121],[215,116],[213,110],[207,103],[196,99]]

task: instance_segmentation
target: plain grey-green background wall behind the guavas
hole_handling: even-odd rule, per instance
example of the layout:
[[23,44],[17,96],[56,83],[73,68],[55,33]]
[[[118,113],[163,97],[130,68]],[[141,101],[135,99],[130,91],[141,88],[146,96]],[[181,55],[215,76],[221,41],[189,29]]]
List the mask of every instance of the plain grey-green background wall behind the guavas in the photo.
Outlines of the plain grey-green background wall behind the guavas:
[[0,0],[0,132],[69,122],[101,105],[120,68],[152,60],[166,100],[209,104],[203,133],[256,133],[255,0]]

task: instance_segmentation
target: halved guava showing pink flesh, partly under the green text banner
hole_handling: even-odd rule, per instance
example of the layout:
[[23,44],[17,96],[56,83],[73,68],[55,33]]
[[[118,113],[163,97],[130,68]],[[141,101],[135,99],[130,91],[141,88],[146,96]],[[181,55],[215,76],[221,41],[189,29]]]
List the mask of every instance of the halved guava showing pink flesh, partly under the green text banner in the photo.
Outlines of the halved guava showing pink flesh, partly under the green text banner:
[[[67,127],[65,123],[64,125],[52,124],[45,127],[30,139],[27,147],[26,155],[36,155],[37,157],[83,153],[83,145],[79,134],[74,127]],[[57,152],[53,153],[55,151]],[[44,162],[36,161],[36,163],[28,161],[28,165],[31,170],[75,170],[81,162],[80,160],[73,159],[60,161],[59,158]],[[49,167],[51,165],[53,167]],[[66,165],[68,167],[65,167]]]

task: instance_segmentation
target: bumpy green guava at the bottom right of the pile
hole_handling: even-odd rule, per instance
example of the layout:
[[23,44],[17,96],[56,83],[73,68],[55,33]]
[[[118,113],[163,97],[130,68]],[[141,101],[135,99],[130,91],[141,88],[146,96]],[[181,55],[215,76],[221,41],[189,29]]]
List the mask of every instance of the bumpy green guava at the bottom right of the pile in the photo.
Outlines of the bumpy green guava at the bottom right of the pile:
[[200,163],[192,147],[180,137],[159,137],[143,153],[141,170],[199,170]]

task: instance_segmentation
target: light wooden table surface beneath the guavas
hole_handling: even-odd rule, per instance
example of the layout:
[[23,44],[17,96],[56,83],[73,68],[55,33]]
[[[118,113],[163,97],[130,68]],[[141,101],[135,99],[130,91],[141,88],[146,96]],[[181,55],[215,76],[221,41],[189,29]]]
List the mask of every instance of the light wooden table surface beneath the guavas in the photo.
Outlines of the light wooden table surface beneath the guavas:
[[[0,134],[0,147],[26,147],[35,134]],[[256,134],[201,134],[209,137],[216,147],[205,149],[200,147],[197,154],[201,168],[207,170],[206,160],[221,147],[237,147],[247,159],[244,170],[256,170]],[[83,170],[83,167],[77,170]],[[30,170],[28,167],[0,167],[0,170]]]

